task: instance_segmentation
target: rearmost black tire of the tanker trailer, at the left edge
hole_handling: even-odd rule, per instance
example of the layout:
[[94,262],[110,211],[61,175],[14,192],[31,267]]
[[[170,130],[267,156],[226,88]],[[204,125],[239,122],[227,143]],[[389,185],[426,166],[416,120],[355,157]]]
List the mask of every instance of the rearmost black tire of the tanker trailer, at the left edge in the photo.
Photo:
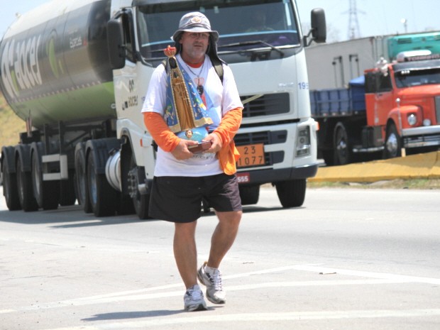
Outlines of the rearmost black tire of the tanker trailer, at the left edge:
[[9,163],[9,158],[13,158],[12,149],[12,147],[4,147],[4,150],[2,150],[4,155],[1,159],[1,175],[3,177],[3,194],[6,206],[9,211],[16,211],[21,209],[21,204],[18,198],[16,171],[15,168],[11,168],[12,162]]

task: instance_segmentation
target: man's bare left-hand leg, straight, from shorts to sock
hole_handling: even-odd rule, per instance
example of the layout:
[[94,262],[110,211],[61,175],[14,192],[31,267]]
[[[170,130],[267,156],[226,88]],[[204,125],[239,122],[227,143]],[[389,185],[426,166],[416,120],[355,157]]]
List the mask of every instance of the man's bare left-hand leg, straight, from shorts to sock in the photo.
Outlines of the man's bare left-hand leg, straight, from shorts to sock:
[[174,257],[180,277],[187,289],[197,284],[196,225],[197,221],[175,224]]

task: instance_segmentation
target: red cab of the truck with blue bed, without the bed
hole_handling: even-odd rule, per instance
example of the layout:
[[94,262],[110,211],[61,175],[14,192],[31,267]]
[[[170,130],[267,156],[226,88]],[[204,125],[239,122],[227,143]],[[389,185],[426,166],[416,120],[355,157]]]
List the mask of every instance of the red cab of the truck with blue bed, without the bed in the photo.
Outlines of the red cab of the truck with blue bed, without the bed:
[[368,138],[385,158],[440,145],[440,54],[412,51],[365,70]]

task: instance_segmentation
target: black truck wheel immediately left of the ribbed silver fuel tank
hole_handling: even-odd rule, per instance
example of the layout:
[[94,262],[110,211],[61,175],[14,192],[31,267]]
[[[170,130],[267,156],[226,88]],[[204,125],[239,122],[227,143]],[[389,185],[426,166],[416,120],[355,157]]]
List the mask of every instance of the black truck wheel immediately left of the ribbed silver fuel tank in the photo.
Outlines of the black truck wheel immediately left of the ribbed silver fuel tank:
[[87,157],[87,189],[95,216],[114,216],[116,213],[117,192],[106,179],[105,173],[96,172],[93,150]]

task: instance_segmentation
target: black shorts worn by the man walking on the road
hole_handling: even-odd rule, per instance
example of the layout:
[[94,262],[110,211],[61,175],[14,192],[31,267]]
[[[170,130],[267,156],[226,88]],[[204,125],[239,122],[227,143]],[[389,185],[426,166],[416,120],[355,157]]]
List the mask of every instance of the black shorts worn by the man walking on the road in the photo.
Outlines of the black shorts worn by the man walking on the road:
[[241,211],[236,175],[154,177],[148,215],[172,222],[199,219],[202,199],[216,211]]

